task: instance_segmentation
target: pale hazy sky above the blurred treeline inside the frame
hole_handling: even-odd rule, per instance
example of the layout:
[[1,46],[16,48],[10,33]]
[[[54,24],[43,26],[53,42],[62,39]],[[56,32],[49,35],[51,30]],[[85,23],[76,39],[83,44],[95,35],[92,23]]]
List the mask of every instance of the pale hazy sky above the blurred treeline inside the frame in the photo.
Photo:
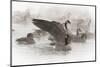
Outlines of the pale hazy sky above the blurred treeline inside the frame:
[[[12,12],[25,11],[29,9],[32,14],[48,15],[52,17],[63,16],[70,12],[73,15],[94,16],[94,7],[89,6],[74,6],[60,4],[44,4],[44,3],[29,3],[29,2],[13,2]],[[47,16],[46,16],[47,17]]]

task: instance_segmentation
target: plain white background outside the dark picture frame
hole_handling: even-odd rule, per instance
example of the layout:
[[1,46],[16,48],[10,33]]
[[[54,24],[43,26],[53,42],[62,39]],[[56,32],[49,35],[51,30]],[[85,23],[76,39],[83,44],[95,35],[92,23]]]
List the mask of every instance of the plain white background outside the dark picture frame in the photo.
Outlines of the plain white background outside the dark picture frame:
[[[39,1],[39,0],[38,0]],[[47,2],[47,0],[40,0]],[[97,5],[97,34],[100,33],[99,31],[99,22],[100,22],[100,1],[99,0],[48,0],[48,2],[58,2],[58,3],[73,3],[73,4],[94,4]],[[2,0],[0,2],[0,67],[9,67],[9,55],[10,55],[10,1],[9,0]],[[71,63],[71,64],[58,64],[58,65],[44,65],[44,66],[37,66],[37,67],[84,67],[84,66],[91,66],[91,67],[99,67],[100,64],[100,42],[99,42],[100,35],[97,35],[97,62],[87,62],[87,63]]]

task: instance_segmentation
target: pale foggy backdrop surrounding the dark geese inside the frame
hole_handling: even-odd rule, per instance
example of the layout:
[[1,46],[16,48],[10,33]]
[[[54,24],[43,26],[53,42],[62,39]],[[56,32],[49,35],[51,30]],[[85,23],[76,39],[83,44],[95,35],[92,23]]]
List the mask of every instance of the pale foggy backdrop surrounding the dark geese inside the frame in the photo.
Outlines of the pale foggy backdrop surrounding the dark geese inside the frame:
[[[71,33],[75,33],[77,24],[82,22],[82,26],[89,32],[95,34],[95,8],[89,6],[74,6],[60,4],[12,2],[12,63],[13,65],[42,64],[56,62],[75,62],[95,59],[95,39],[88,39],[84,43],[70,44],[71,51],[55,52],[50,46],[48,36],[35,39],[32,45],[19,45],[17,38],[25,37],[27,33],[39,29],[32,24],[32,19],[44,19],[57,21],[63,24],[70,20],[68,28]],[[88,28],[88,23],[90,23]],[[86,26],[84,26],[86,25]]]

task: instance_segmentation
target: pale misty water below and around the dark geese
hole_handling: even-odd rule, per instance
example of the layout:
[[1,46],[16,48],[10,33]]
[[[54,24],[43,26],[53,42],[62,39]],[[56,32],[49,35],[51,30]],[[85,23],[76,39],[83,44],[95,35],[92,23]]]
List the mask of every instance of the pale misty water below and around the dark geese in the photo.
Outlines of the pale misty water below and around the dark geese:
[[34,32],[39,29],[33,24],[21,25],[13,24],[12,32],[12,64],[13,65],[26,65],[26,64],[42,64],[42,63],[58,63],[58,62],[74,62],[74,61],[87,61],[95,59],[95,41],[89,39],[85,43],[70,44],[71,50],[57,52],[47,38],[48,36],[36,39],[35,44],[20,45],[16,43],[16,38],[25,37],[27,33]]

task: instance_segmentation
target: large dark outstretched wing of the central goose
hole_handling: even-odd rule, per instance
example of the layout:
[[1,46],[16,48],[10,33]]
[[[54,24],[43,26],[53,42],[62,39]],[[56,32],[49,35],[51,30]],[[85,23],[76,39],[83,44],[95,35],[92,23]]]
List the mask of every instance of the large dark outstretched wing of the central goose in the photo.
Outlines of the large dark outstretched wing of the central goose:
[[63,41],[65,39],[65,31],[62,25],[56,21],[47,21],[42,19],[33,19],[33,24],[35,24],[40,29],[49,32],[56,41]]

